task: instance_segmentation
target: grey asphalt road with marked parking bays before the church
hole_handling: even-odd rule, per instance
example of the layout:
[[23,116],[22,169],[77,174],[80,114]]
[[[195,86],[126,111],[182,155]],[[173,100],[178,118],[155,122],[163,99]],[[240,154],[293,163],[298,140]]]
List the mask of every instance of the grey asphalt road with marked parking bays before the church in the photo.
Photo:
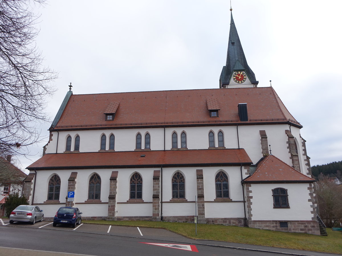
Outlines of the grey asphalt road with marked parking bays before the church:
[[[210,243],[215,246],[205,245]],[[327,255],[264,246],[247,246],[249,250],[241,250],[237,249],[237,247],[243,247],[241,244],[232,245],[224,242],[187,239],[170,231],[153,228],[81,224],[73,229],[71,226],[62,225],[53,227],[52,222],[45,221],[35,225],[0,222],[0,256],[48,256],[59,255],[58,253],[63,253],[63,255],[68,253],[68,256],[182,256],[192,254],[198,256],[272,256],[279,255],[279,252],[289,255]]]

